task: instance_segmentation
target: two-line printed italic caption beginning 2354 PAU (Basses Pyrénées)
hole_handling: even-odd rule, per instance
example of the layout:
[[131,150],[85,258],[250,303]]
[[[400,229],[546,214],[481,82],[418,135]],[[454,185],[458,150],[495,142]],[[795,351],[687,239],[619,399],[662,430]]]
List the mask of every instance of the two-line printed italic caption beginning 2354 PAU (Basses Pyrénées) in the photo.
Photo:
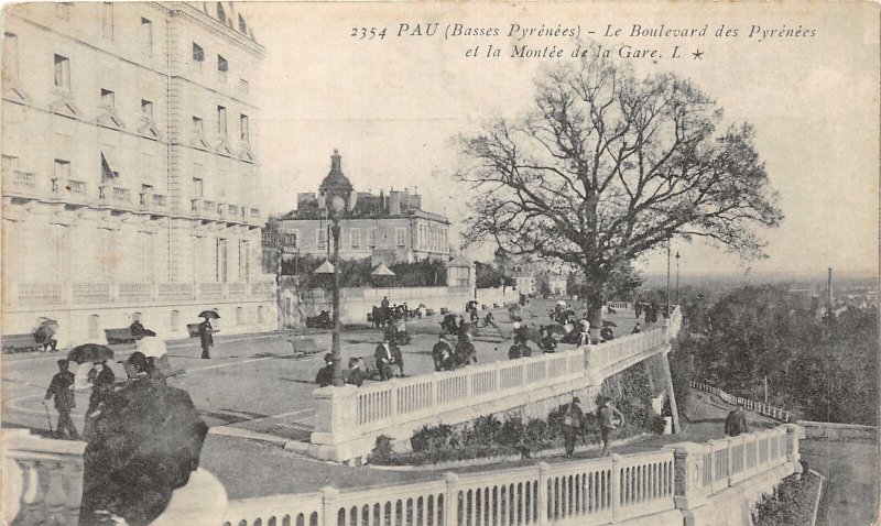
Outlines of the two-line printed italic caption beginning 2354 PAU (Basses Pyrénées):
[[[596,29],[580,24],[541,24],[521,25],[511,23],[507,26],[472,26],[463,23],[440,22],[400,22],[388,26],[351,28],[349,36],[361,41],[385,41],[413,37],[443,37],[467,42],[463,53],[467,57],[485,58],[584,58],[596,56],[609,58],[701,58],[697,50],[698,39],[738,39],[746,36],[753,42],[769,40],[797,40],[816,36],[816,30],[801,24],[765,26],[751,24],[743,28],[726,24],[698,26],[676,26],[668,24],[643,25],[631,23],[626,25],[605,24]],[[575,39],[640,39],[640,44],[616,44],[612,47],[598,44],[585,47],[574,43]],[[504,42],[482,41],[476,43],[469,39],[504,39]],[[646,45],[644,39],[677,39],[676,44],[664,42],[663,45]],[[688,42],[692,42],[689,45]],[[568,44],[568,45],[566,45]],[[681,45],[679,45],[681,44]],[[694,47],[694,51],[692,50]],[[684,50],[687,50],[684,51]]]

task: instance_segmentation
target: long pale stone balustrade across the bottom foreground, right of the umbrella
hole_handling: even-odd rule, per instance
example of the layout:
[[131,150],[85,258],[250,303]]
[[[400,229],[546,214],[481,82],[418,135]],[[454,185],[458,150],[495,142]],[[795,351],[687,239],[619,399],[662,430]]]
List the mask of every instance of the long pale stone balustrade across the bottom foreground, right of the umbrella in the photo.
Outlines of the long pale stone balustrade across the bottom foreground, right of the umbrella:
[[[224,526],[682,524],[714,495],[796,470],[798,428],[443,480],[230,501]],[[759,492],[761,493],[761,491]]]

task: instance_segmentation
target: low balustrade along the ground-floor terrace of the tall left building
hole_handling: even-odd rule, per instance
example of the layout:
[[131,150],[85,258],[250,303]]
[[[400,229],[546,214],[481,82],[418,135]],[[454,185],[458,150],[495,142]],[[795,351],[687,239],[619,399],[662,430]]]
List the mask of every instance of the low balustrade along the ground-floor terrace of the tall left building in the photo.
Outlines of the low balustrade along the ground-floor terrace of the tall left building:
[[84,305],[199,299],[273,299],[274,282],[250,283],[17,283],[3,294],[17,305]]

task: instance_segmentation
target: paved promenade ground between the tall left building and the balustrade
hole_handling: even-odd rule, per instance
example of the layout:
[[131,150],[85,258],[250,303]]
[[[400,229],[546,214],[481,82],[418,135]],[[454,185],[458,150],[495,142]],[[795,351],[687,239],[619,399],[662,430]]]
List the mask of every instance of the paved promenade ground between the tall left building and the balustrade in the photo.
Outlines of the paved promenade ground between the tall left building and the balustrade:
[[[524,321],[530,325],[548,322],[546,310],[552,302],[534,302],[524,309]],[[580,313],[580,309],[579,309]],[[634,319],[632,313],[620,313],[613,319],[618,333],[629,333]],[[512,327],[503,309],[496,310],[501,333],[510,338]],[[409,331],[413,342],[402,348],[407,374],[422,374],[434,370],[431,348],[437,340],[439,316],[411,321]],[[282,450],[278,445],[261,443],[227,436],[237,429],[257,431],[280,440],[302,440],[308,437],[314,423],[315,407],[312,392],[315,374],[323,365],[323,352],[292,359],[290,337],[278,333],[257,336],[229,336],[216,338],[211,360],[200,360],[196,339],[170,343],[168,359],[174,368],[186,373],[174,380],[193,397],[194,403],[211,428],[203,450],[203,465],[218,475],[233,498],[272,493],[287,493],[319,487],[356,485],[368,482],[387,483],[418,478],[418,474],[395,473],[369,469],[351,469],[302,459]],[[328,349],[330,335],[316,332],[317,347]],[[349,330],[342,335],[342,358],[372,355],[380,332]],[[302,342],[301,342],[302,343]],[[494,331],[481,330],[476,341],[480,363],[507,359],[511,341]],[[564,346],[567,348],[567,346]],[[113,346],[116,359],[122,360],[132,346]],[[55,361],[61,354],[7,354],[2,360],[2,426],[26,427],[34,432],[47,430],[46,414],[41,398],[45,394]],[[112,366],[118,379],[124,377],[121,365]],[[76,395],[74,421],[83,428],[83,416],[88,404],[88,392]],[[56,414],[51,412],[53,425]],[[267,476],[272,473],[272,476]]]

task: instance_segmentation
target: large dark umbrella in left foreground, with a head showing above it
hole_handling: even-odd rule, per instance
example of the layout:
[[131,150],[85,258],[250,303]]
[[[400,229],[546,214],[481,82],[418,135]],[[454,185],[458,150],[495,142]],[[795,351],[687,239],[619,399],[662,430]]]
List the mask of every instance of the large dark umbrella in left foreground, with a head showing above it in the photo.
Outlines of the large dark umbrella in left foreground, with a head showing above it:
[[189,395],[153,381],[142,353],[129,363],[137,379],[107,397],[86,446],[80,526],[148,525],[198,468],[208,427]]

